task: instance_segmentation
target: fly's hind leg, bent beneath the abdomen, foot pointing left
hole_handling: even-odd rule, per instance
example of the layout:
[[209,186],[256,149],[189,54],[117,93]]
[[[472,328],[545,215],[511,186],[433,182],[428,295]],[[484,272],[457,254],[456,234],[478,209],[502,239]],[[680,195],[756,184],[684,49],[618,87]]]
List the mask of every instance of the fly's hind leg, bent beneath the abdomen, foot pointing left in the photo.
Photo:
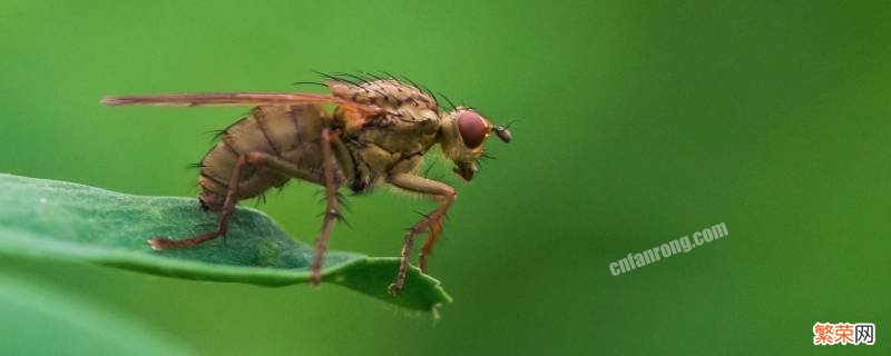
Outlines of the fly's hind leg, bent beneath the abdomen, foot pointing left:
[[228,230],[229,219],[232,219],[232,214],[235,210],[235,204],[237,202],[236,197],[238,196],[238,182],[239,182],[238,179],[242,172],[242,168],[244,168],[245,165],[265,166],[275,169],[277,171],[281,171],[282,174],[293,178],[322,184],[322,181],[319,179],[317,176],[306,170],[303,170],[297,166],[294,166],[294,164],[281,159],[278,157],[261,151],[252,151],[244,154],[238,157],[238,160],[235,164],[235,167],[233,168],[232,177],[229,178],[228,190],[226,192],[226,200],[223,204],[223,209],[219,212],[219,221],[217,222],[217,227],[215,230],[207,231],[187,239],[169,239],[163,237],[154,237],[148,239],[148,245],[150,245],[151,248],[155,250],[169,249],[169,248],[184,248],[184,247],[200,245],[203,243],[213,240],[219,236],[226,236],[226,231]]

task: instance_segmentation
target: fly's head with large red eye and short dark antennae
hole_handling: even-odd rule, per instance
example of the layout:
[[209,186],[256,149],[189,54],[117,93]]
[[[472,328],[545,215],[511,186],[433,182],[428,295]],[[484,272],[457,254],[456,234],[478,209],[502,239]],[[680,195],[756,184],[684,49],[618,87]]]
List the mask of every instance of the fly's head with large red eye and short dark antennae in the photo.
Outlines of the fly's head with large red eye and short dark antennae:
[[440,126],[440,147],[454,162],[453,171],[467,181],[479,170],[477,160],[483,157],[483,142],[495,134],[501,141],[510,142],[510,131],[492,125],[471,108],[458,107],[446,113]]

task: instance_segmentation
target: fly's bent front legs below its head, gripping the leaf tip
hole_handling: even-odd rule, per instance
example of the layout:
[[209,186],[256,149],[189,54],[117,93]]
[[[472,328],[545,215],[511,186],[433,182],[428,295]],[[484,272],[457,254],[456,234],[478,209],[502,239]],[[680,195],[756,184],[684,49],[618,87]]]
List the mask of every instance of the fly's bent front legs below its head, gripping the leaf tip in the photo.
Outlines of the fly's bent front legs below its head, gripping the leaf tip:
[[392,175],[389,177],[388,181],[395,187],[409,191],[429,195],[439,201],[439,207],[437,207],[435,210],[421,218],[421,220],[415,222],[414,226],[412,226],[405,233],[405,243],[402,246],[399,273],[396,274],[395,281],[393,281],[389,288],[391,294],[398,295],[402,291],[402,287],[405,285],[405,275],[409,270],[409,260],[411,258],[414,237],[420,233],[430,230],[430,238],[423,247],[420,261],[423,266],[422,268],[425,268],[427,256],[432,251],[433,245],[439,239],[440,231],[442,230],[442,218],[446,216],[446,211],[449,210],[449,207],[451,207],[452,202],[454,202],[454,199],[458,198],[458,195],[456,194],[454,188],[450,187],[449,185],[410,174]]

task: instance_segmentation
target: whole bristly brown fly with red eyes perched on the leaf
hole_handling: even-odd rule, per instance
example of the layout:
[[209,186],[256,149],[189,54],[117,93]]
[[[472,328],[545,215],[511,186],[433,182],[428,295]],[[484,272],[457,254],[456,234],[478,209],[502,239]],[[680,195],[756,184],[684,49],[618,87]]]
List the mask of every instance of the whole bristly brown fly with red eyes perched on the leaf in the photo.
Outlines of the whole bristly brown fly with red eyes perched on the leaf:
[[[428,233],[419,265],[427,271],[428,257],[442,233],[446,212],[456,201],[456,189],[418,172],[422,157],[439,145],[453,171],[469,181],[479,170],[483,142],[495,134],[511,140],[508,127],[492,125],[470,107],[451,105],[443,111],[437,97],[407,79],[393,76],[323,75],[329,93],[232,92],[106,97],[108,106],[252,106],[251,113],[221,134],[219,142],[198,165],[198,201],[218,214],[216,229],[183,239],[153,237],[155,250],[196,246],[226,235],[235,205],[283,187],[291,179],[324,187],[325,211],[315,241],[311,281],[321,281],[322,260],[333,224],[342,220],[342,186],[355,194],[390,185],[428,196],[439,202],[404,235],[401,263],[391,294],[405,283],[412,246]],[[443,97],[444,98],[444,97]],[[446,99],[449,101],[448,99]]]

